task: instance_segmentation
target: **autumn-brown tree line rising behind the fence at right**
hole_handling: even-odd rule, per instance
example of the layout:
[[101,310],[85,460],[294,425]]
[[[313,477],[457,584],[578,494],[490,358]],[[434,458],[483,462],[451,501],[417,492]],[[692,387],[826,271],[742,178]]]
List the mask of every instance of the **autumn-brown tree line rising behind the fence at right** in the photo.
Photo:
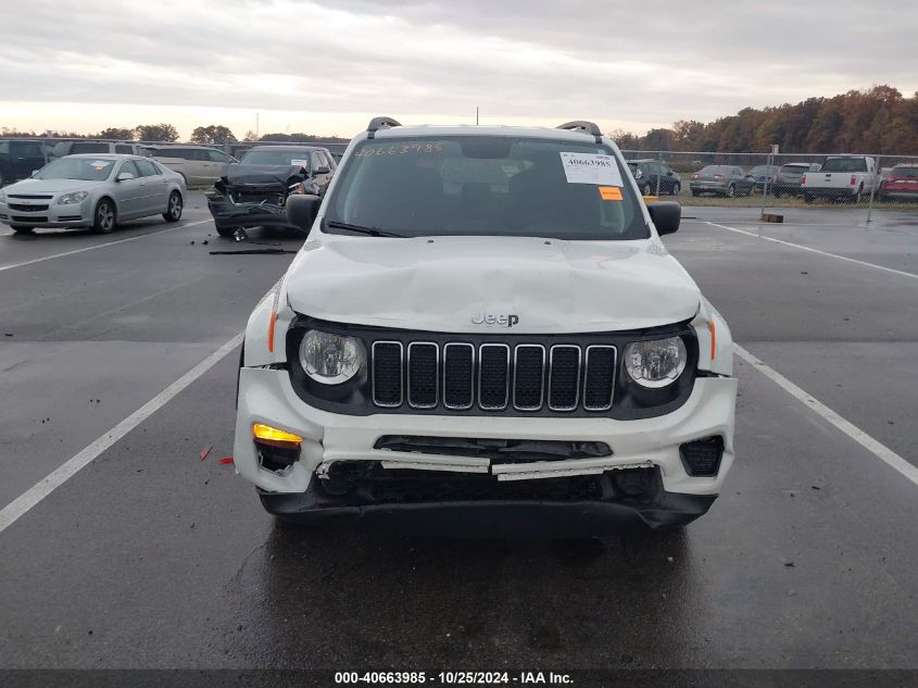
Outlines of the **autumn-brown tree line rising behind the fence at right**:
[[891,86],[850,90],[796,104],[744,108],[703,124],[681,120],[644,136],[616,129],[609,136],[625,150],[785,153],[918,154],[918,91],[911,97]]

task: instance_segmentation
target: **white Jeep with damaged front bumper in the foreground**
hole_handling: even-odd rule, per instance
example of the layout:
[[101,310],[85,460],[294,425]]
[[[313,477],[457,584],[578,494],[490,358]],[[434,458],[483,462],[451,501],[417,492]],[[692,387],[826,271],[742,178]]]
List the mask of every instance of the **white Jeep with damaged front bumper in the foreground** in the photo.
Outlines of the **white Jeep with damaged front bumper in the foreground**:
[[[733,462],[727,324],[595,124],[376,118],[249,318],[234,460],[284,520],[682,525]],[[392,521],[387,521],[391,527]]]

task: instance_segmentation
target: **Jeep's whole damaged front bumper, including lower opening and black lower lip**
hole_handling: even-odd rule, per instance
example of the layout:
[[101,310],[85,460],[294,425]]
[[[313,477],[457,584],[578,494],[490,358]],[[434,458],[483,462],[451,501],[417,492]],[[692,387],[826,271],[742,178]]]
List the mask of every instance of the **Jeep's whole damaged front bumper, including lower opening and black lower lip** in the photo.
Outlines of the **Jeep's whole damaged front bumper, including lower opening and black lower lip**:
[[[234,455],[268,511],[290,518],[411,521],[424,512],[430,523],[428,513],[438,512],[454,525],[475,511],[486,523],[551,523],[564,513],[562,521],[586,530],[623,520],[665,526],[702,515],[720,491],[733,461],[735,393],[734,378],[699,377],[679,409],[632,421],[353,416],[304,403],[286,371],[243,367]],[[301,436],[297,461],[266,465],[253,423]],[[712,437],[721,438],[722,448],[715,473],[691,475],[680,447]],[[516,456],[481,449],[520,439],[535,447]],[[564,446],[577,449],[565,455]]]

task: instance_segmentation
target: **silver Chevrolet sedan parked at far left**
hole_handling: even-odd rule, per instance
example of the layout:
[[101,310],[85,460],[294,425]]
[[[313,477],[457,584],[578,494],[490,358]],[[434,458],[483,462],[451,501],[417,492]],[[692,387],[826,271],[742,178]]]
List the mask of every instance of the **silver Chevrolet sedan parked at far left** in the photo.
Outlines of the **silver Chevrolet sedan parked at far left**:
[[91,227],[160,215],[178,222],[183,178],[138,155],[79,154],[54,160],[28,179],[0,190],[0,222],[20,234],[35,227]]

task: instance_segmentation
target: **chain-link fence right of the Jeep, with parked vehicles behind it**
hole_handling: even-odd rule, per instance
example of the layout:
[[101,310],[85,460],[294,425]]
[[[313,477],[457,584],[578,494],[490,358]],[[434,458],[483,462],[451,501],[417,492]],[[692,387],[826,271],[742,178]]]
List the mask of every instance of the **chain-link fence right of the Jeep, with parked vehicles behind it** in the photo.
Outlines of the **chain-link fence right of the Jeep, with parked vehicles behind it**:
[[918,209],[918,155],[623,153],[645,196],[684,205]]

